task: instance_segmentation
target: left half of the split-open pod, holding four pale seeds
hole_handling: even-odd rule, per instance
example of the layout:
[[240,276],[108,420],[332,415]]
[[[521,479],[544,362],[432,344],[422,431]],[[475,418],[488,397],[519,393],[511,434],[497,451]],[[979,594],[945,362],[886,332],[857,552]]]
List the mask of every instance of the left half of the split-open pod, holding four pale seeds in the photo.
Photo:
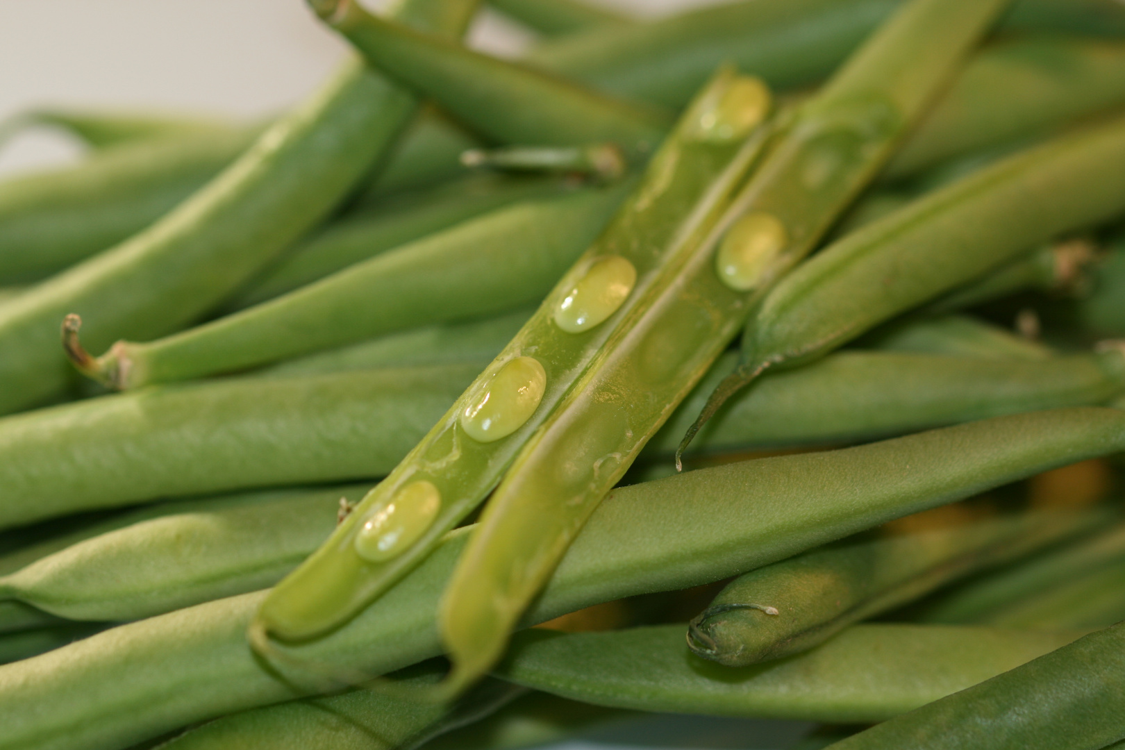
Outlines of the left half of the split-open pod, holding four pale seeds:
[[[744,99],[747,87],[757,91],[752,82],[728,70],[704,90],[654,156],[610,226],[562,277],[515,338],[325,546],[278,585],[255,624],[259,631],[300,640],[336,627],[417,564],[441,535],[496,486],[520,448],[588,367],[616,323],[659,278],[667,259],[692,242],[694,234],[726,206],[760,142],[760,137],[753,136],[747,141],[755,123],[744,120],[745,107],[758,103]],[[712,132],[729,124],[746,127],[729,135]],[[606,268],[605,262],[616,264],[611,268],[622,263],[630,266],[626,270],[632,271],[631,278],[610,280],[610,286],[624,295],[616,295],[614,305],[601,309],[604,315],[595,318],[594,325],[585,326],[588,329],[582,335],[562,331],[556,324],[560,300],[577,295],[577,284],[587,272],[598,263],[603,263],[598,268]],[[585,305],[582,299],[578,304]],[[505,371],[510,364],[518,369]],[[521,376],[528,378],[523,385],[512,383],[507,390],[497,385],[494,395],[489,390],[493,378],[502,371],[520,374],[536,365],[541,377]],[[538,398],[521,400],[523,392]],[[477,426],[474,419],[469,419],[468,427],[465,424],[465,415],[475,414],[476,399],[482,398],[513,414],[508,421],[503,412],[498,413],[506,423],[505,432],[496,439],[487,436],[483,441],[470,432]],[[480,421],[482,426],[488,426],[492,418]],[[415,503],[398,498],[408,488],[428,487],[432,490]],[[370,553],[360,553],[358,545],[366,543],[360,540],[378,532],[382,517],[379,514],[387,507],[405,514],[423,506],[430,515],[410,523],[403,543],[395,545],[397,554],[376,560],[369,559]],[[364,532],[369,523],[371,531]]]

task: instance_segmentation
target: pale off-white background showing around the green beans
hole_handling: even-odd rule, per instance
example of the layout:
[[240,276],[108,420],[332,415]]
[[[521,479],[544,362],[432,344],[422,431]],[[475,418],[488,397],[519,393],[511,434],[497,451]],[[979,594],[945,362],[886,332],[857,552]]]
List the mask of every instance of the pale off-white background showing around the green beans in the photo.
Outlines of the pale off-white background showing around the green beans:
[[[656,16],[721,0],[603,0]],[[378,3],[372,3],[378,4]],[[486,13],[475,46],[515,55],[532,37]],[[0,2],[0,121],[44,106],[205,112],[240,119],[312,92],[345,54],[303,0]],[[0,175],[76,159],[51,132],[0,146]],[[655,716],[594,730],[552,750],[785,748],[807,724]]]

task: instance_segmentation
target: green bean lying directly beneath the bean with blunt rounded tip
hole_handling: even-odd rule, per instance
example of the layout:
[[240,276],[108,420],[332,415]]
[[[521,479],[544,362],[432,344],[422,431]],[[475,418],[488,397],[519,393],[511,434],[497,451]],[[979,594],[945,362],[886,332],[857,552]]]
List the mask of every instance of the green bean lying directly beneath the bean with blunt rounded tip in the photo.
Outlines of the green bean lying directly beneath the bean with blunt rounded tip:
[[621,708],[874,722],[1025,665],[1080,635],[856,625],[807,653],[731,668],[687,651],[680,625],[611,633],[528,631],[515,638],[497,674],[538,690]]

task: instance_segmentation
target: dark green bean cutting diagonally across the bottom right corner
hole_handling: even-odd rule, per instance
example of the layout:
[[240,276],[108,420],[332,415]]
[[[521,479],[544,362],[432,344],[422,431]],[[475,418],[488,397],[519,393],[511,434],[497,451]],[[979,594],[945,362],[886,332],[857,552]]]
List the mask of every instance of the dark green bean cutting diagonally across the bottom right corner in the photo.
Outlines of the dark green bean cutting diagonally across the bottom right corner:
[[1125,738],[1125,624],[897,716],[834,750],[1097,750]]

